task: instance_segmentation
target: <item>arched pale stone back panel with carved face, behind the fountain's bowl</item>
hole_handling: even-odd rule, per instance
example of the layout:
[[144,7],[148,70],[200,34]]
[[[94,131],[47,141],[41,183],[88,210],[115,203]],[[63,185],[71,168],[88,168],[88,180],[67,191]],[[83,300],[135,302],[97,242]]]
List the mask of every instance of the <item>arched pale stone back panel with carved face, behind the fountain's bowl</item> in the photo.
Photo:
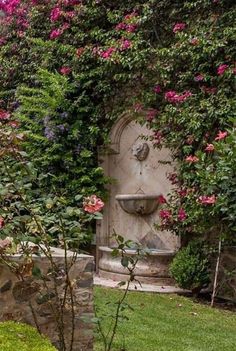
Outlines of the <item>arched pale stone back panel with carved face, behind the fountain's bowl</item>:
[[[97,227],[97,259],[99,274],[103,276],[107,276],[105,271],[112,272],[112,269],[113,273],[122,273],[122,269],[117,268],[118,263],[115,268],[114,261],[108,262],[109,248],[116,245],[112,238],[114,232],[125,239],[142,243],[156,255],[162,253],[164,256],[163,253],[167,253],[167,256],[173,256],[179,247],[179,239],[176,236],[167,231],[158,231],[155,227],[159,221],[160,206],[148,215],[130,214],[124,211],[116,200],[118,194],[166,196],[170,192],[171,184],[166,177],[167,173],[173,171],[172,166],[168,164],[168,161],[171,161],[170,151],[154,149],[152,142],[142,137],[148,137],[150,133],[145,125],[140,125],[131,116],[122,116],[110,133],[110,147],[100,154],[105,174],[114,180],[109,189],[110,198],[105,206],[103,220]],[[167,270],[165,274],[168,275]]]

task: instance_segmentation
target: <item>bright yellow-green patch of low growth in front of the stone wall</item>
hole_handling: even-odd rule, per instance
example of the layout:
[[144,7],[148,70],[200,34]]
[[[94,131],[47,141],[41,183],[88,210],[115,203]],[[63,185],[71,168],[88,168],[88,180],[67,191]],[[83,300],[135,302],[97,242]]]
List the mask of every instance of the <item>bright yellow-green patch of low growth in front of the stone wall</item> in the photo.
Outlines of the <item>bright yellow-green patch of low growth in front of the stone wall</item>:
[[37,330],[26,324],[0,323],[1,351],[56,351],[50,342]]

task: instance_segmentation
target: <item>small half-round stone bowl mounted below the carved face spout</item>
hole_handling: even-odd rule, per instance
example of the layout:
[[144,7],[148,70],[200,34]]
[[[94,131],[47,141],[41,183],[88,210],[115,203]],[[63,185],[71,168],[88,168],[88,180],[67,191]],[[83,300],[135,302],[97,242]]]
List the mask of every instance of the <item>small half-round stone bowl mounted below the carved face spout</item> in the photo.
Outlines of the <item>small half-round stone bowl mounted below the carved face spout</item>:
[[160,193],[156,194],[117,194],[115,199],[121,208],[135,215],[149,215],[153,213],[159,205]]

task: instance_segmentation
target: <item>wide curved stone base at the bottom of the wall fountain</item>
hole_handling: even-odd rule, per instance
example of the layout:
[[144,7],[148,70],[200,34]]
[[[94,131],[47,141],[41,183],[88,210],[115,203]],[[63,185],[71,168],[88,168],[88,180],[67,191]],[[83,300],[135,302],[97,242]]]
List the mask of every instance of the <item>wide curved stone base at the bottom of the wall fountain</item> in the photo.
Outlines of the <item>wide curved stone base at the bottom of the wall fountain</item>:
[[[120,257],[112,257],[112,249],[107,246],[99,247],[99,251],[99,276],[115,281],[127,280],[128,271],[122,267]],[[135,250],[127,250],[127,255],[135,255]],[[150,250],[148,256],[137,264],[137,280],[147,284],[174,285],[169,275],[169,264],[174,255],[174,251]]]

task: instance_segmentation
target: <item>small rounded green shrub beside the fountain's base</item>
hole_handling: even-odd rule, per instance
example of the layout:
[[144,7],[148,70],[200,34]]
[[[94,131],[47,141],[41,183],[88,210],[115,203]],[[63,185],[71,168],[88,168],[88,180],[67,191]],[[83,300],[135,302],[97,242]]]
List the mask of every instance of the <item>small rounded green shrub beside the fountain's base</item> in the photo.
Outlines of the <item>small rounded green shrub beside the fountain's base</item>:
[[191,241],[175,256],[170,272],[183,289],[198,294],[210,282],[209,259],[206,248],[200,241]]

